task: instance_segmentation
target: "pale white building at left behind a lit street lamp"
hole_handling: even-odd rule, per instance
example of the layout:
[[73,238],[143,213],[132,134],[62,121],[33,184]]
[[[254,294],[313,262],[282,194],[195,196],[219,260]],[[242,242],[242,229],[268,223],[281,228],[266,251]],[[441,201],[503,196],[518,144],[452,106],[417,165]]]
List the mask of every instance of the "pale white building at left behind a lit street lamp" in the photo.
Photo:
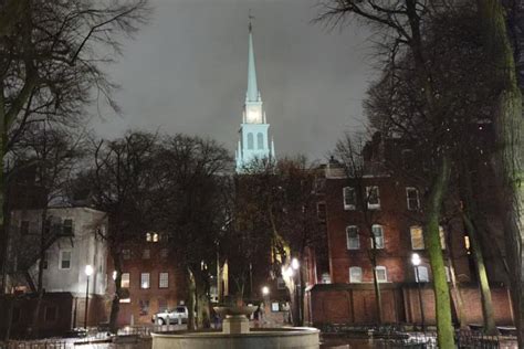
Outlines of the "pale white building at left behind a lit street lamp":
[[31,292],[38,285],[42,231],[46,246],[42,285],[46,293],[85,297],[86,265],[93,267],[90,295],[104,295],[107,284],[107,215],[90,208],[51,208],[42,225],[42,210],[11,213],[10,288]]

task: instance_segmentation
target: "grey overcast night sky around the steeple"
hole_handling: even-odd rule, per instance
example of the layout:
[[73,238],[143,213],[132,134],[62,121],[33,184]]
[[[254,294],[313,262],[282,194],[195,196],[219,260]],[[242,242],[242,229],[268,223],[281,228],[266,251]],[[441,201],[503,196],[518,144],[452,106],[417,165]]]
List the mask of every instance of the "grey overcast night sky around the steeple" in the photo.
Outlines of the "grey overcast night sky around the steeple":
[[259,89],[276,155],[325,159],[345,129],[361,128],[373,78],[368,33],[328,31],[317,0],[151,0],[151,22],[111,67],[123,116],[95,117],[102,137],[130,128],[217,139],[233,151],[248,78],[248,11]]

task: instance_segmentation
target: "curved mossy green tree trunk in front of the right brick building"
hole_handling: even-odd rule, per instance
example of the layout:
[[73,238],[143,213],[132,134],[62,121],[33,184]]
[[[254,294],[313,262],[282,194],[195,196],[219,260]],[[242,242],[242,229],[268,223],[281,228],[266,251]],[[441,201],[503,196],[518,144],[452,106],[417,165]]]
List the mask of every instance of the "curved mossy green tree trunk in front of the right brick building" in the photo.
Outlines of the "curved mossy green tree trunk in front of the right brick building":
[[454,331],[451,321],[451,299],[446,279],[444,258],[440,244],[440,210],[450,177],[449,158],[443,155],[428,200],[428,213],[425,241],[433,274],[433,289],[437,315],[439,348],[454,348]]

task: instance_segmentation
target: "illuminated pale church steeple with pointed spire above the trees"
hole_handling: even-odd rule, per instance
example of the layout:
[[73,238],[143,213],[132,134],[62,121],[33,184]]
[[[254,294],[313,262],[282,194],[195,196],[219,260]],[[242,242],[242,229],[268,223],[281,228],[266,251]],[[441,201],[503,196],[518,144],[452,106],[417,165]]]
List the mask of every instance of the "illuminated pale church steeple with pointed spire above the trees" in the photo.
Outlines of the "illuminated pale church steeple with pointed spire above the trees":
[[265,118],[262,97],[256,85],[254,66],[253,33],[249,24],[248,91],[240,125],[240,139],[235,151],[237,172],[241,173],[254,159],[275,159],[274,142],[269,138],[270,124]]

